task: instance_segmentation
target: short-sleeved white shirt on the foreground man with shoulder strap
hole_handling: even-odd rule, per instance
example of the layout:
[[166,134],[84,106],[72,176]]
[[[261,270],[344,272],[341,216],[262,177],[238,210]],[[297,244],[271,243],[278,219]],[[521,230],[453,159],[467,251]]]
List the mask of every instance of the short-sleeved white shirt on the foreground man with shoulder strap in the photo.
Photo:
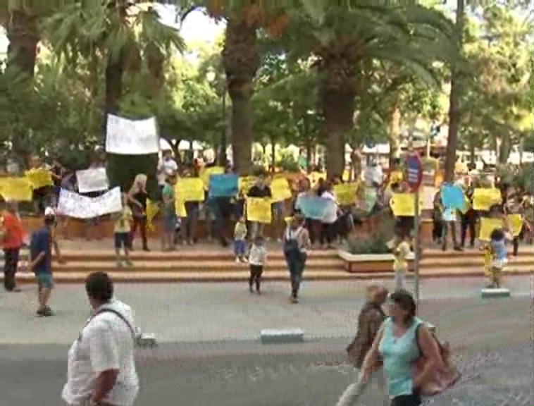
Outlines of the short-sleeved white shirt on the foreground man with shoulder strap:
[[[97,309],[109,308],[122,314],[134,326],[132,309],[113,299]],[[83,328],[68,352],[67,383],[62,398],[69,405],[83,405],[91,398],[97,376],[110,369],[119,373],[113,389],[104,402],[114,406],[132,406],[139,392],[135,369],[135,343],[132,331],[116,314],[98,314]]]

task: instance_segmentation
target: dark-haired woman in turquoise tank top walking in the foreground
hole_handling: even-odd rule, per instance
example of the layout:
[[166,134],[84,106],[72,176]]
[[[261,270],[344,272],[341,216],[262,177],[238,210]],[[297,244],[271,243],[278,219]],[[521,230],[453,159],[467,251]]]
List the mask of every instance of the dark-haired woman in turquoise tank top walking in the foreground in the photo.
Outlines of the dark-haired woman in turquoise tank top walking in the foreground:
[[[375,338],[364,361],[360,380],[366,381],[380,355],[391,406],[418,406],[421,405],[418,388],[440,366],[440,350],[424,321],[416,317],[416,302],[411,294],[406,290],[396,290],[390,300],[392,316],[384,322]],[[414,363],[421,356],[428,361],[421,373],[414,377]]]

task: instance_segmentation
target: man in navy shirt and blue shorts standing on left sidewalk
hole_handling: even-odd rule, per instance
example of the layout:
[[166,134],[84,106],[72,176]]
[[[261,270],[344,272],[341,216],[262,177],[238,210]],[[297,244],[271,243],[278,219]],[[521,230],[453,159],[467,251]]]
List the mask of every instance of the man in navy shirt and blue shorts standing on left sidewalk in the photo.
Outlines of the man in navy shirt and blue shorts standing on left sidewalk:
[[30,240],[30,263],[28,269],[35,273],[39,287],[39,308],[37,316],[53,316],[48,306],[54,278],[52,277],[52,245],[54,243],[54,226],[56,216],[44,216],[44,226],[32,234]]

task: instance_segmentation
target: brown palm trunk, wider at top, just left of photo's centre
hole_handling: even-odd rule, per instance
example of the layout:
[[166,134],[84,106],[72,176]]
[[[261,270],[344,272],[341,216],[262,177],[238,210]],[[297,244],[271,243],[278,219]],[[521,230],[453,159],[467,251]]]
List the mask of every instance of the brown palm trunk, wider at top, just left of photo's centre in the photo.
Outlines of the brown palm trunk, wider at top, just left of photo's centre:
[[223,64],[232,100],[231,140],[233,166],[240,175],[252,173],[252,121],[250,99],[260,58],[256,23],[244,16],[230,17],[226,25]]

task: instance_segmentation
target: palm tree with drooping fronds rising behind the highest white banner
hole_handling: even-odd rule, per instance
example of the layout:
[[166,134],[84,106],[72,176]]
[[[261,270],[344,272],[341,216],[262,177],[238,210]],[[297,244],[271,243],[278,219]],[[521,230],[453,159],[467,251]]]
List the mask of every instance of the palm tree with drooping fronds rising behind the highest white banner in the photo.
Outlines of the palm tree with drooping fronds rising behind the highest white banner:
[[155,89],[163,86],[163,63],[185,43],[175,28],[164,25],[159,14],[149,6],[135,6],[126,0],[110,0],[104,6],[75,4],[63,8],[46,20],[47,39],[56,54],[69,63],[82,58],[105,63],[107,113],[117,113],[123,94],[123,75],[137,71],[146,61]]

